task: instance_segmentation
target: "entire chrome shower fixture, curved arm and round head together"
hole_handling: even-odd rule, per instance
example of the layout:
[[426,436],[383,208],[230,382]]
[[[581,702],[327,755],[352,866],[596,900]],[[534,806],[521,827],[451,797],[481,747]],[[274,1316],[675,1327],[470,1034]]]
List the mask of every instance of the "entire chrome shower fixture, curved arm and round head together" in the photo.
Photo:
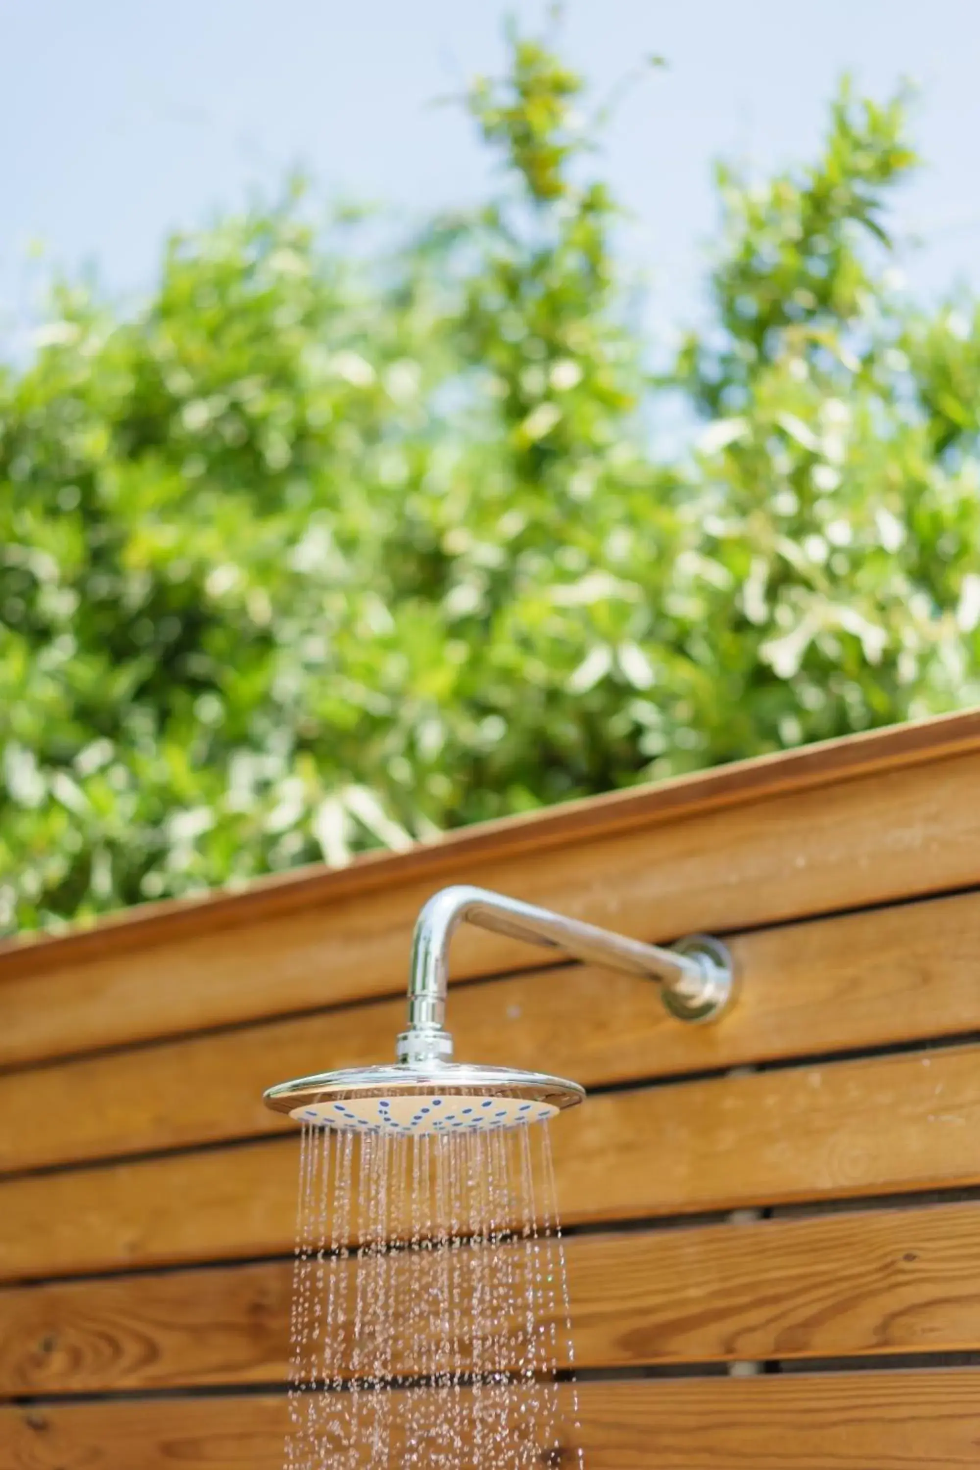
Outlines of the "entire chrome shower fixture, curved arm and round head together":
[[453,1038],[442,1025],[448,948],[464,920],[564,950],[580,960],[645,975],[663,985],[667,1010],[679,1020],[714,1020],[735,992],[732,961],[717,939],[695,936],[673,951],[658,950],[482,888],[444,888],[429,900],[416,925],[408,1029],[398,1036],[398,1061],[281,1082],[264,1094],[266,1104],[298,1123],[361,1133],[448,1136],[544,1123],[580,1102],[585,1089],[564,1078],[450,1060]]

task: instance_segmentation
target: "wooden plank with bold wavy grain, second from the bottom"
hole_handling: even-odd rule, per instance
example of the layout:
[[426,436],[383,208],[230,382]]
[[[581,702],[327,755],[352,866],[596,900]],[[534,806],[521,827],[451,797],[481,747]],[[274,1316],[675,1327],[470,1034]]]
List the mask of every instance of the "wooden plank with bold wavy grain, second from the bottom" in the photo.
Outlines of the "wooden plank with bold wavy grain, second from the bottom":
[[[566,1260],[579,1367],[980,1349],[976,1204],[579,1235]],[[291,1261],[7,1288],[0,1396],[282,1380],[291,1291]]]

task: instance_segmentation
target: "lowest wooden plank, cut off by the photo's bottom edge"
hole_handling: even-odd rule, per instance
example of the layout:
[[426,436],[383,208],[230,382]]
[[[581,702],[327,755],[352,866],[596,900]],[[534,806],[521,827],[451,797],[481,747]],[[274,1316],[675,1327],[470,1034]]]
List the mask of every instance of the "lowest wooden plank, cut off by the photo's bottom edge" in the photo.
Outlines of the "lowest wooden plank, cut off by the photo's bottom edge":
[[[962,1369],[577,1394],[561,1464],[580,1449],[589,1470],[973,1470],[980,1449],[980,1373]],[[0,1470],[279,1470],[285,1416],[281,1395],[0,1408]]]

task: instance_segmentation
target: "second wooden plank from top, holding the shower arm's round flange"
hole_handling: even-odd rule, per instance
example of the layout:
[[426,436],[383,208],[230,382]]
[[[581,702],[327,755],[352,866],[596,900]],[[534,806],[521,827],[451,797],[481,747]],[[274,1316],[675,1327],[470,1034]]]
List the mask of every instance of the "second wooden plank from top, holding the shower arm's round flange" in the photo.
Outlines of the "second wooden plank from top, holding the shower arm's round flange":
[[[742,994],[717,1026],[680,1026],[639,976],[569,966],[460,986],[457,1054],[599,1086],[980,1029],[980,894],[763,929],[733,951]],[[404,1001],[381,1001],[7,1073],[0,1172],[282,1132],[263,1088],[386,1058],[403,1025]]]

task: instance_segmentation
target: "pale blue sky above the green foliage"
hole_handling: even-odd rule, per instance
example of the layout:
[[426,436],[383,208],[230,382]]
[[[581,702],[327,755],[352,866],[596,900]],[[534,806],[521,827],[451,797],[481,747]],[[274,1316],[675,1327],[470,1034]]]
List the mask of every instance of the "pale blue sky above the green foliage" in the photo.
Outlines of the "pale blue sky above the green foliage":
[[[0,320],[34,309],[32,240],[109,290],[153,276],[167,229],[303,165],[325,193],[413,213],[479,196],[466,121],[433,98],[501,57],[501,15],[539,0],[0,0]],[[623,251],[658,329],[696,310],[711,160],[768,169],[815,148],[836,78],[920,88],[927,168],[895,225],[917,291],[980,285],[977,0],[570,0],[566,47],[599,96],[651,51],[604,169],[633,222]],[[4,332],[10,341],[9,331]]]

